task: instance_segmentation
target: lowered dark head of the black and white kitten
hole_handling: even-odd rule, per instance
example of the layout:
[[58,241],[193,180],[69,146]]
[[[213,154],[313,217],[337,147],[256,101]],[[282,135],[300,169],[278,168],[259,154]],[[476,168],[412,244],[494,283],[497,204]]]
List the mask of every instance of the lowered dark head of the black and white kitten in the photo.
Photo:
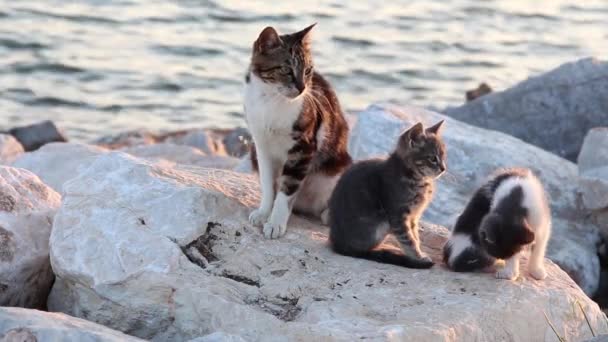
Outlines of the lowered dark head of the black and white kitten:
[[508,259],[534,241],[534,232],[523,216],[490,213],[481,221],[479,240],[491,256]]

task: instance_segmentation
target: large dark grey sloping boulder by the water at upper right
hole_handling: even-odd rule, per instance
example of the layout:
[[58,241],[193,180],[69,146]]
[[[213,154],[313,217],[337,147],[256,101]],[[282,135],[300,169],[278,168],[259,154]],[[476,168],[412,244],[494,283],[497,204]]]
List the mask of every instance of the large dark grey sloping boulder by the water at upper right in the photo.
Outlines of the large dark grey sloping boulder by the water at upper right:
[[575,161],[587,131],[608,122],[606,98],[608,62],[587,58],[446,113]]

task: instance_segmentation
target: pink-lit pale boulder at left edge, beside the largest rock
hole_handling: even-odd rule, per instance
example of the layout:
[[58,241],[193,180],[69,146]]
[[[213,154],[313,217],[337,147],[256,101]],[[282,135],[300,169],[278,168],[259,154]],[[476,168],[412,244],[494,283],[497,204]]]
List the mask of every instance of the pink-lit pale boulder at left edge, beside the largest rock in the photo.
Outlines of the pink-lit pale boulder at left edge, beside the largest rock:
[[0,306],[44,308],[51,222],[61,197],[27,170],[0,166]]

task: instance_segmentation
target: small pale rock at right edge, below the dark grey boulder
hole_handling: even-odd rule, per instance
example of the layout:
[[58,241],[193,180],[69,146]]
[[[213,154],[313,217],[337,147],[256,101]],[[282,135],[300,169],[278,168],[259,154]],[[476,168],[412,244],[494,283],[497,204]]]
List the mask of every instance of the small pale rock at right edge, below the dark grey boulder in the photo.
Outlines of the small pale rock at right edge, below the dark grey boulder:
[[608,208],[608,127],[597,127],[587,133],[578,156],[578,170],[585,207]]

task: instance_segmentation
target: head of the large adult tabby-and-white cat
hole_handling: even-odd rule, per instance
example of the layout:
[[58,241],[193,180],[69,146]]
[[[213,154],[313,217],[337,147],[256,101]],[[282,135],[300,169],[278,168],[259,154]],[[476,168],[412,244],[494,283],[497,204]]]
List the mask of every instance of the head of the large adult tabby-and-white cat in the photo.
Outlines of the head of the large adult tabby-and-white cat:
[[251,72],[283,96],[298,97],[312,82],[309,33],[315,25],[280,36],[274,28],[266,27],[253,43]]

